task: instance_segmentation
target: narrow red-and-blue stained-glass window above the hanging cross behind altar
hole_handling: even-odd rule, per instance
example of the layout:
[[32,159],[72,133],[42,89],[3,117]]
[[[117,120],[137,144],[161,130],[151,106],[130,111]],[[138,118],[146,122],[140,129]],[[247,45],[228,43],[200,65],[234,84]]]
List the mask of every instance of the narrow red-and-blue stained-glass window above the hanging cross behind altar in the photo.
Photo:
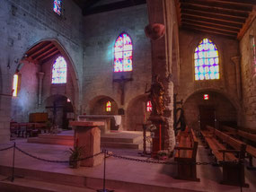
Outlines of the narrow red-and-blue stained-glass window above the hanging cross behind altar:
[[127,33],[119,35],[114,52],[114,72],[132,71],[132,41]]

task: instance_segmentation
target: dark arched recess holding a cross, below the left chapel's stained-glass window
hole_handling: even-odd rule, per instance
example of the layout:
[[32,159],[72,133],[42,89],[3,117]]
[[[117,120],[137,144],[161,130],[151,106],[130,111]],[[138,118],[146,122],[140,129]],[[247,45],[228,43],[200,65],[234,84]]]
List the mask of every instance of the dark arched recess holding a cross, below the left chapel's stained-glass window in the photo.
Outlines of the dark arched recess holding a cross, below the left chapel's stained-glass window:
[[74,107],[64,95],[51,95],[44,101],[49,121],[59,128],[68,129],[68,121],[74,120]]

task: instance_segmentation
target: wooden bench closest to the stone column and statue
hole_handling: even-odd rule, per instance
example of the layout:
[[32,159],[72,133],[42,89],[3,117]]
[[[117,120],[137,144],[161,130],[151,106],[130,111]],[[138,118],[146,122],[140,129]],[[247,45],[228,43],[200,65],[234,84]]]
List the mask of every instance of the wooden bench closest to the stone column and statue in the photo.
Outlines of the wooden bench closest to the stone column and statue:
[[185,131],[178,133],[177,141],[174,156],[174,161],[178,162],[178,176],[176,179],[199,181],[196,165],[199,142],[194,131],[186,127]]

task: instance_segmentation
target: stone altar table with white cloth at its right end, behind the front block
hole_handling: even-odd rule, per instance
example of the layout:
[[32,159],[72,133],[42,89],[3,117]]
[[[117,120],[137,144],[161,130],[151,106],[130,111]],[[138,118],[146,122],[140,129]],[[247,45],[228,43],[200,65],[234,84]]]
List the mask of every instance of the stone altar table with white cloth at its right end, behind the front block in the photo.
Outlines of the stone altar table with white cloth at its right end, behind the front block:
[[110,130],[122,130],[122,117],[120,115],[80,115],[77,120],[104,122],[103,126],[99,126],[102,135],[110,132]]

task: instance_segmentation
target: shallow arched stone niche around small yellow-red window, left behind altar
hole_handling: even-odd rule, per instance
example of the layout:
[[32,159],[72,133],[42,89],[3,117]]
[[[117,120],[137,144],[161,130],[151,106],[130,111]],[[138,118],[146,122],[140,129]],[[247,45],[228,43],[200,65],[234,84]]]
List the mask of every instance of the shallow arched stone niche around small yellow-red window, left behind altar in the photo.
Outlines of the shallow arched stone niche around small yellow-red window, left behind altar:
[[[111,111],[106,111],[107,101],[111,102]],[[106,95],[99,95],[89,101],[91,115],[118,115],[119,106],[115,100]]]

